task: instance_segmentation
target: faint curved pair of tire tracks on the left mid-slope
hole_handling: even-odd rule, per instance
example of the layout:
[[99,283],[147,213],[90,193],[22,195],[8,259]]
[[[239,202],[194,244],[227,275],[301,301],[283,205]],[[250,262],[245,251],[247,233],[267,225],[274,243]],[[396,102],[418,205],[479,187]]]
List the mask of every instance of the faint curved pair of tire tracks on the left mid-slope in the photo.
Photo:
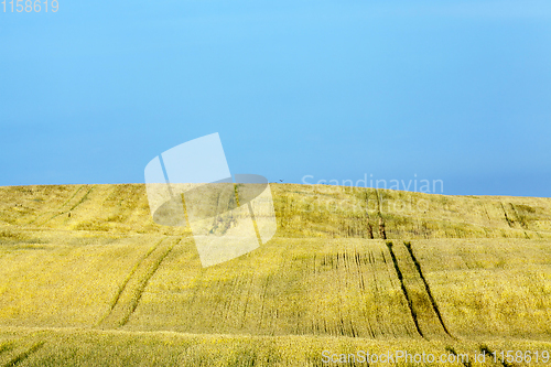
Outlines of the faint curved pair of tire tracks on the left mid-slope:
[[125,326],[134,313],[150,279],[180,239],[165,237],[132,268],[115,295],[109,312],[98,322],[101,328]]

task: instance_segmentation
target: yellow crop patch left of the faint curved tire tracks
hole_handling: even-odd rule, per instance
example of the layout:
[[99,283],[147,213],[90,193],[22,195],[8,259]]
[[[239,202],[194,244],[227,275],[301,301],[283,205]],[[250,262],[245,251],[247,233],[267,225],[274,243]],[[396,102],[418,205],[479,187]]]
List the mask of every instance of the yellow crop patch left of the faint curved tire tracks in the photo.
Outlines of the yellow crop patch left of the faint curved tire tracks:
[[133,236],[75,245],[78,239],[62,233],[39,246],[0,246],[0,324],[94,325],[130,269],[156,240]]

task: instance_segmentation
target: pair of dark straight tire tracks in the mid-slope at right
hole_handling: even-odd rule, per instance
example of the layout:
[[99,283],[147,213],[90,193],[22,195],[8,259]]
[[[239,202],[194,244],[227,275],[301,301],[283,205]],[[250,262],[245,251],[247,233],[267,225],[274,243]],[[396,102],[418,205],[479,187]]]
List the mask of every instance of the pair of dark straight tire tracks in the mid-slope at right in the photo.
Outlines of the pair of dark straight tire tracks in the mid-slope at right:
[[387,247],[419,335],[425,339],[453,338],[445,326],[411,244],[395,246],[391,241],[387,241]]

